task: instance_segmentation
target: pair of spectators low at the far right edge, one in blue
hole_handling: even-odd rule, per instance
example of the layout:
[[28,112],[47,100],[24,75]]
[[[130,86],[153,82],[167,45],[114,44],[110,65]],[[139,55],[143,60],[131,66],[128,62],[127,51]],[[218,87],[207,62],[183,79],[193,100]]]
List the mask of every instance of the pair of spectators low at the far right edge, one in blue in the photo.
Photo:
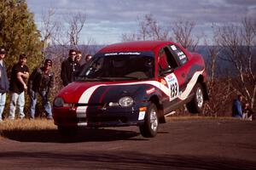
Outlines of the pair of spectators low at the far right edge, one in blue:
[[248,103],[243,104],[243,98],[244,97],[239,94],[237,98],[234,99],[232,106],[232,116],[243,120],[253,121],[255,120],[253,111]]

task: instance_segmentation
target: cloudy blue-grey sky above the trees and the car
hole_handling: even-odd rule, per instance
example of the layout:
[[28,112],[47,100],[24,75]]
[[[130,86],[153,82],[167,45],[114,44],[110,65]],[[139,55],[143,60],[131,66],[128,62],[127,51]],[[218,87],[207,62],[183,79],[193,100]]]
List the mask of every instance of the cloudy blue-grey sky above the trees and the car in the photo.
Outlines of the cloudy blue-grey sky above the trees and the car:
[[67,14],[86,14],[82,42],[93,38],[97,43],[121,40],[122,33],[136,32],[138,18],[153,14],[160,26],[172,26],[175,20],[194,20],[195,33],[212,32],[212,23],[239,23],[256,17],[256,0],[26,0],[40,29],[42,14],[55,9],[55,19]]

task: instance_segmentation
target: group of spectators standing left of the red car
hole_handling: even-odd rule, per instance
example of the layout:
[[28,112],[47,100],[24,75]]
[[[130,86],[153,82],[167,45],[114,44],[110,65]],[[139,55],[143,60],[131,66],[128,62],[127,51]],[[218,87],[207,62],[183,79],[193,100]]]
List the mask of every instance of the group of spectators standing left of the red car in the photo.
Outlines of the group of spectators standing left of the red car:
[[[26,54],[20,54],[18,62],[13,65],[10,79],[8,78],[7,69],[3,59],[6,51],[0,48],[0,122],[3,122],[3,110],[6,103],[6,94],[9,93],[9,114],[8,119],[15,119],[17,109],[17,117],[23,119],[25,117],[25,94],[27,92],[30,99],[29,116],[34,119],[36,115],[36,105],[38,97],[42,99],[44,113],[47,119],[52,119],[51,104],[49,102],[49,94],[54,88],[55,74],[51,71],[53,62],[51,59],[45,59],[44,65],[35,68],[30,74],[29,68],[26,66]],[[85,56],[85,63],[92,58],[90,54]],[[69,50],[69,56],[61,63],[61,80],[63,86],[74,81],[75,75],[84,66],[81,65],[82,53],[74,49]],[[27,83],[26,83],[27,82]]]

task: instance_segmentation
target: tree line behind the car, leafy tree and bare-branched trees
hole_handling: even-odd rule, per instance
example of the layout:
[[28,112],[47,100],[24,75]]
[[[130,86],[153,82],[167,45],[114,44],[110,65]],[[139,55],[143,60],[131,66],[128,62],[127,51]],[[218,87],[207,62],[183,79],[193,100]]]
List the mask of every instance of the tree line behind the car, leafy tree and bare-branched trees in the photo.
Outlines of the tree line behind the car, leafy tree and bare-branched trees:
[[[60,65],[68,49],[78,49],[83,54],[96,53],[93,38],[88,37],[86,42],[80,39],[87,24],[86,14],[78,12],[56,19],[55,9],[49,9],[42,14],[38,29],[26,0],[3,0],[0,11],[0,46],[7,49],[8,71],[20,53],[29,56],[27,65],[31,69],[42,64],[44,59],[53,59],[55,75],[60,75]],[[137,31],[120,35],[120,41],[168,40],[191,51],[196,51],[199,44],[205,45],[210,100],[203,114],[224,116],[230,111],[236,94],[243,94],[255,111],[256,20],[244,18],[239,25],[212,23],[210,37],[203,32],[195,36],[195,21],[177,20],[169,24],[161,25],[153,14],[146,14],[137,20]],[[224,62],[232,67],[222,67]],[[55,80],[55,93],[51,99],[62,88],[60,77]]]

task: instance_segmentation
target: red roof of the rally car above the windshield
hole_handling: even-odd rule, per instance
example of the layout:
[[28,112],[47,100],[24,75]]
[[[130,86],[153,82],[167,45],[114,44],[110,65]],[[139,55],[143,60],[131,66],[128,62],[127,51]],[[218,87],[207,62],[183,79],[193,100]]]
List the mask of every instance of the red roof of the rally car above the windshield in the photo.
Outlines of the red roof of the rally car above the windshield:
[[102,48],[99,53],[120,52],[120,51],[152,51],[158,46],[165,46],[173,42],[167,41],[137,41],[137,42],[120,42],[108,45]]

